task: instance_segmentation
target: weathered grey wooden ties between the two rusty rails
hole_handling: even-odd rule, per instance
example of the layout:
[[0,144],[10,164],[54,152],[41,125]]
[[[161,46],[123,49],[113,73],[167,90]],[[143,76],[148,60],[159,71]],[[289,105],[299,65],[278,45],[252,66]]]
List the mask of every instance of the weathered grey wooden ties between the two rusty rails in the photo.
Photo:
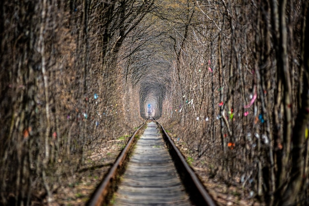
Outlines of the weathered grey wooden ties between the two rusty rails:
[[156,124],[150,122],[137,141],[115,193],[114,205],[192,205],[158,131]]

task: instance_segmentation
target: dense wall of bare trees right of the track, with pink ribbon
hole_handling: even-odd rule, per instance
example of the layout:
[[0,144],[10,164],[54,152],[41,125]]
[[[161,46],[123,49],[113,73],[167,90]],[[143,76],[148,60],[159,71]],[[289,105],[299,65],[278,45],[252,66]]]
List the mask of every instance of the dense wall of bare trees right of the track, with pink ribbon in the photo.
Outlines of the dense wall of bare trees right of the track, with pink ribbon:
[[171,101],[161,119],[224,182],[267,205],[305,204],[308,2],[173,2]]

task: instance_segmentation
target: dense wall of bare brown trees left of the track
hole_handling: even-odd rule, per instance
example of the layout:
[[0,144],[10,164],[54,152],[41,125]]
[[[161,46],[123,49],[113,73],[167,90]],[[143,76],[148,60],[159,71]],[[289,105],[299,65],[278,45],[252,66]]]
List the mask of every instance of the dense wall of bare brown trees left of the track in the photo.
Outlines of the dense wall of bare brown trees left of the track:
[[85,151],[142,122],[138,92],[124,90],[116,63],[152,3],[0,2],[1,204],[51,201]]

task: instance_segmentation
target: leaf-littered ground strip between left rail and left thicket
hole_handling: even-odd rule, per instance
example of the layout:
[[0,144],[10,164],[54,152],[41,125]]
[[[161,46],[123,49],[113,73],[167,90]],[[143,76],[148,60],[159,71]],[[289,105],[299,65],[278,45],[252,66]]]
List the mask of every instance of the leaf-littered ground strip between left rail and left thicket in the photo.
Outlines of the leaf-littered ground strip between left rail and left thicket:
[[53,201],[49,205],[84,206],[113,166],[128,139],[129,137],[120,137],[105,142],[104,147],[89,148],[84,166],[72,177],[61,179],[62,185],[53,194]]

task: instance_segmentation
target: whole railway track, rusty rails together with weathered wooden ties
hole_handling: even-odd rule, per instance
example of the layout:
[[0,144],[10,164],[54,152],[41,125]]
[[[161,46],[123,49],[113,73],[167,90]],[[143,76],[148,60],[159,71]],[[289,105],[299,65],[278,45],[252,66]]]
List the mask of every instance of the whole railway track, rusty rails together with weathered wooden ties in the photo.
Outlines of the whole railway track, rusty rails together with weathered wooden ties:
[[[146,127],[144,133],[136,137],[143,127]],[[216,204],[164,128],[157,122],[145,121],[130,138],[87,205]]]

